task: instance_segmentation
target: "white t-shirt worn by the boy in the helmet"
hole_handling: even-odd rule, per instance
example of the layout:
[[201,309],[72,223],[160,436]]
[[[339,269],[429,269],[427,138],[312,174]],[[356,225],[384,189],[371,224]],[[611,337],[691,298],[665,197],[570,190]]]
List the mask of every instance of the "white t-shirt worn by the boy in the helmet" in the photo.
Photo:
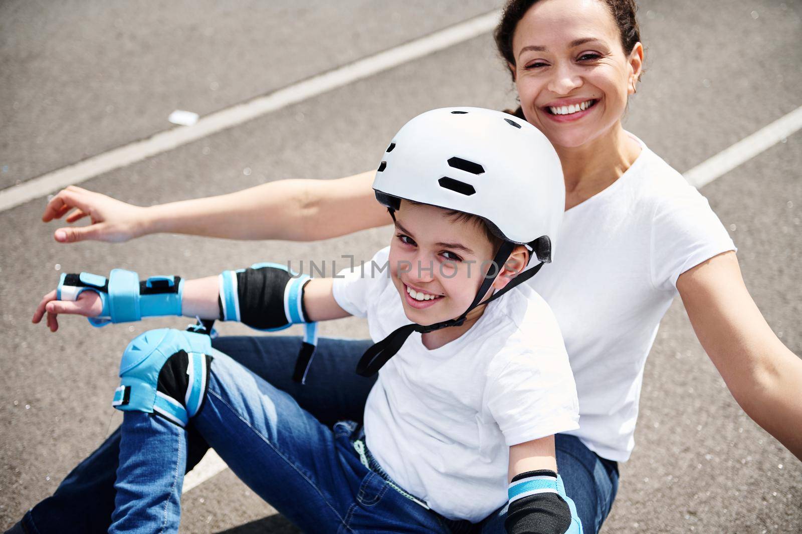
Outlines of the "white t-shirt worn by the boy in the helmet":
[[[373,257],[387,265],[389,247]],[[334,279],[334,299],[380,341],[410,320],[371,262]],[[522,284],[434,350],[413,332],[365,407],[367,447],[395,482],[450,519],[479,521],[507,501],[509,447],[577,429],[573,374],[549,305]]]

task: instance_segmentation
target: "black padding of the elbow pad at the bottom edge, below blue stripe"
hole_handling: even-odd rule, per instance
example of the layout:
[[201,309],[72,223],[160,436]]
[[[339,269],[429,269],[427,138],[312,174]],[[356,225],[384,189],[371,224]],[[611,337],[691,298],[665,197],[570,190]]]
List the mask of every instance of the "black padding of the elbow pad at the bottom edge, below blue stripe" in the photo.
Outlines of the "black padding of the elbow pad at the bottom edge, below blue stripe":
[[571,509],[557,493],[537,493],[513,501],[504,528],[508,534],[564,534],[571,526]]

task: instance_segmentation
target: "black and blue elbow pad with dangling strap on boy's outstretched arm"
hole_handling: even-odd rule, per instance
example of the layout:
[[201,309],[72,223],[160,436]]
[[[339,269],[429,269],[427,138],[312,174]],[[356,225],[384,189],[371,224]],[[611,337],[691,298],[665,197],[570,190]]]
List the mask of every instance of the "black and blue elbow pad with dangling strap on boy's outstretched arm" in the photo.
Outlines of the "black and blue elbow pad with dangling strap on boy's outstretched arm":
[[286,265],[257,263],[249,269],[220,275],[220,316],[257,330],[273,332],[306,323],[293,379],[305,383],[318,344],[318,323],[309,322],[303,305],[303,288],[311,278]]

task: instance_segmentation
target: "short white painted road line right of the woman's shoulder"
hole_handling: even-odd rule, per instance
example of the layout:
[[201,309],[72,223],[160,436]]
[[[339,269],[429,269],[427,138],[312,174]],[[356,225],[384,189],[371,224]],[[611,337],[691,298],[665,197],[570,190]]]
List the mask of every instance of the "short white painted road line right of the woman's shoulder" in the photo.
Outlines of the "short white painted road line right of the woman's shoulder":
[[740,164],[751,160],[760,152],[791,136],[802,128],[802,106],[784,117],[777,119],[766,127],[755,131],[751,136],[743,138],[730,148],[725,148],[707,161],[692,168],[683,176],[697,188],[710,184],[723,174],[727,174]]

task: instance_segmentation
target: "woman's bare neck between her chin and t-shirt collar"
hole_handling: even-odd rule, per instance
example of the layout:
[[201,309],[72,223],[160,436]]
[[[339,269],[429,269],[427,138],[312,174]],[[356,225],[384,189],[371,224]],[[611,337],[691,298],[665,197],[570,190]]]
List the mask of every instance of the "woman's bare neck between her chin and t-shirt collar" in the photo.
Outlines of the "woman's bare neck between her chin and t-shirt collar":
[[578,147],[555,147],[565,176],[565,209],[610,187],[641,153],[638,141],[626,134],[621,122]]

